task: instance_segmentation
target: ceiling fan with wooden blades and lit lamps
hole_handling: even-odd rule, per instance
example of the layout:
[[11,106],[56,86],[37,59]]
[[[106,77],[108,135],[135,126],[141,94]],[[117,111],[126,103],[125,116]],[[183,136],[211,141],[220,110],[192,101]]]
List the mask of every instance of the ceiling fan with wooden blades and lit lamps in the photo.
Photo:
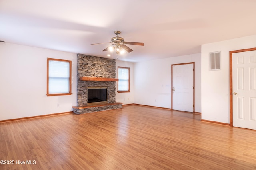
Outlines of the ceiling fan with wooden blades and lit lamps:
[[[108,51],[108,50],[112,51],[115,49],[116,54],[122,53],[124,50],[127,51],[128,53],[130,53],[133,50],[130,49],[129,47],[127,47],[126,44],[144,46],[144,43],[140,43],[140,42],[125,42],[124,38],[118,36],[121,33],[120,31],[115,31],[114,33],[116,34],[116,37],[112,37],[111,38],[112,42],[108,42],[108,43],[112,43],[112,44],[110,46],[106,47],[105,49],[103,49],[102,51]],[[103,43],[94,43],[91,45],[96,45],[96,44],[103,44]]]

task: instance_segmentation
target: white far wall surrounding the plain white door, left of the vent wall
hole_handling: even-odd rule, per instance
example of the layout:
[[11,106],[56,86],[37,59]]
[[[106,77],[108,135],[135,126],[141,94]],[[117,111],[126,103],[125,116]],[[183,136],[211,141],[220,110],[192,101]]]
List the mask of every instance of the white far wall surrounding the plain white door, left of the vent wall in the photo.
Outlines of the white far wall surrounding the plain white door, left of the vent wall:
[[195,111],[201,112],[201,55],[134,63],[134,103],[171,108],[171,65],[195,62]]

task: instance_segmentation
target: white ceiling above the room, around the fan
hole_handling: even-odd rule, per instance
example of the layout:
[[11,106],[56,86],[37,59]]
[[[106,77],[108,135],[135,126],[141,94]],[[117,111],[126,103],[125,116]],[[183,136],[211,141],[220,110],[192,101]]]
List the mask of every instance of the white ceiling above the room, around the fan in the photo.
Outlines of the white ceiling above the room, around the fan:
[[[256,0],[0,0],[0,40],[139,62],[256,34]],[[134,51],[102,52],[121,31]]]

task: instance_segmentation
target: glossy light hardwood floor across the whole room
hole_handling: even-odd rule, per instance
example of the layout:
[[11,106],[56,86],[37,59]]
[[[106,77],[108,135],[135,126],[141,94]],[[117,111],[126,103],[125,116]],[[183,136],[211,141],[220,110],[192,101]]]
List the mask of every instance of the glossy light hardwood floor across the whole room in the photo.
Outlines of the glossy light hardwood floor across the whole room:
[[[256,169],[256,130],[145,107],[0,123],[0,169]],[[16,161],[25,161],[17,164]],[[35,164],[27,164],[26,161]],[[34,161],[34,162],[33,162]]]

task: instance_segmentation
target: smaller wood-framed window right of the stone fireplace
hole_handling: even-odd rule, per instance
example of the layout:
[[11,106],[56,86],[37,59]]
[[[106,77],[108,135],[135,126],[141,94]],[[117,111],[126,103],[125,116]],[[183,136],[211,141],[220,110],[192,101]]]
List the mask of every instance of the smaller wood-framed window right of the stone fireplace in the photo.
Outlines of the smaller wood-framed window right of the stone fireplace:
[[117,92],[130,92],[130,68],[118,67]]

